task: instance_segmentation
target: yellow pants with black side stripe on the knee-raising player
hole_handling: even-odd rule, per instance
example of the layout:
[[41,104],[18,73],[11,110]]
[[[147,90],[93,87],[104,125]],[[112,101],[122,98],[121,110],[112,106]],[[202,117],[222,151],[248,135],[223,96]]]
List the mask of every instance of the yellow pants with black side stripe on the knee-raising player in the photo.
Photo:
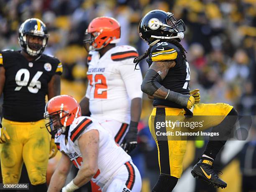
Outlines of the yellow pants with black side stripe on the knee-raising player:
[[[187,141],[174,141],[172,136],[159,137],[156,136],[156,131],[159,129],[156,128],[156,121],[165,121],[172,119],[172,116],[177,117],[174,118],[174,121],[179,120],[179,122],[192,122],[198,121],[200,117],[196,117],[197,115],[209,115],[212,118],[204,118],[202,117],[204,123],[200,128],[194,128],[192,132],[195,131],[204,131],[207,128],[214,127],[220,124],[224,118],[228,115],[230,110],[232,110],[233,106],[230,106],[225,103],[216,103],[216,104],[204,104],[198,103],[194,104],[194,116],[192,118],[186,118],[184,114],[186,113],[184,109],[178,108],[154,108],[149,120],[148,125],[153,136],[156,141],[157,149],[158,149],[158,161],[160,167],[160,173],[169,174],[173,177],[180,178],[182,174],[182,161],[184,154],[186,152]],[[215,116],[213,116],[215,115]],[[168,117],[170,116],[170,117]],[[167,128],[166,128],[167,131]],[[173,140],[173,141],[172,141]],[[177,140],[177,137],[176,139]]]

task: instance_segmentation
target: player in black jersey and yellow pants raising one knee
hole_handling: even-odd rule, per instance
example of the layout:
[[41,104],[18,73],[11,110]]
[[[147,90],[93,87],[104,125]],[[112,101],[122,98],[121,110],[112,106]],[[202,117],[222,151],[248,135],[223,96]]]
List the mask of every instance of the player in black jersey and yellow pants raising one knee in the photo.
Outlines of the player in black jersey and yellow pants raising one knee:
[[[172,13],[152,10],[141,19],[138,30],[140,37],[148,43],[149,49],[142,56],[135,58],[134,62],[137,65],[149,56],[149,69],[141,84],[141,90],[154,99],[154,109],[148,123],[159,154],[160,176],[152,192],[170,192],[181,177],[187,141],[174,141],[171,136],[159,136],[157,125],[165,122],[171,115],[179,115],[176,117],[182,122],[196,120],[197,115],[216,115],[206,118],[200,131],[219,126],[225,127],[225,135],[229,135],[236,122],[237,111],[225,103],[199,103],[199,90],[189,90],[189,64],[186,51],[179,43],[185,31],[182,20],[177,21]],[[166,132],[166,124],[160,130]],[[194,177],[204,179],[215,187],[227,186],[212,167],[225,142],[207,143],[200,161],[192,169]]]

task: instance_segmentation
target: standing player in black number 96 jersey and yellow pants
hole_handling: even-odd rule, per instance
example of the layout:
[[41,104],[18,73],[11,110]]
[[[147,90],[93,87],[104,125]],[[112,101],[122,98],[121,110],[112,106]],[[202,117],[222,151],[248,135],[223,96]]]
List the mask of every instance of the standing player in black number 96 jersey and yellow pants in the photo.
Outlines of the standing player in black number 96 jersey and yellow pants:
[[[21,51],[0,52],[0,95],[3,128],[0,136],[4,184],[19,182],[23,162],[32,191],[45,192],[48,159],[55,156],[54,139],[45,128],[45,97],[60,95],[62,64],[42,54],[48,41],[45,24],[26,20],[19,29]],[[50,151],[50,155],[49,155]]]

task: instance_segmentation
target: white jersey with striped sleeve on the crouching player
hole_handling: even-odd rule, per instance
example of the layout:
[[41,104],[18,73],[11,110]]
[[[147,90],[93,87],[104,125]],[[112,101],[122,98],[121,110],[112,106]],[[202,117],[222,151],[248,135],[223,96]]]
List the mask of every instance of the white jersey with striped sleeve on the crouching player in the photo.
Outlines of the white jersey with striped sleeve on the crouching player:
[[97,122],[97,120],[90,117],[76,118],[69,127],[68,142],[65,143],[65,135],[61,134],[58,138],[55,138],[57,148],[62,153],[66,154],[70,161],[80,169],[83,161],[82,154],[78,146],[78,138],[90,131],[96,129],[99,131],[99,156],[98,156],[98,171],[92,178],[92,182],[95,182],[98,186],[103,187],[106,182],[118,171],[120,166],[126,162],[131,161],[129,156],[123,149],[118,146],[110,133],[106,131]]

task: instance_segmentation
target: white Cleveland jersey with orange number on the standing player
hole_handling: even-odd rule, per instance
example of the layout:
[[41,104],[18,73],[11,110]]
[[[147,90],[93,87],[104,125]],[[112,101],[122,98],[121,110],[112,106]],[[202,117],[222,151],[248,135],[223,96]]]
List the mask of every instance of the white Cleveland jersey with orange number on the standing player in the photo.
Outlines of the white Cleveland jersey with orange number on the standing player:
[[88,55],[88,87],[91,117],[130,123],[131,100],[142,98],[141,70],[134,70],[138,56],[132,46],[115,46],[101,58],[98,51]]

